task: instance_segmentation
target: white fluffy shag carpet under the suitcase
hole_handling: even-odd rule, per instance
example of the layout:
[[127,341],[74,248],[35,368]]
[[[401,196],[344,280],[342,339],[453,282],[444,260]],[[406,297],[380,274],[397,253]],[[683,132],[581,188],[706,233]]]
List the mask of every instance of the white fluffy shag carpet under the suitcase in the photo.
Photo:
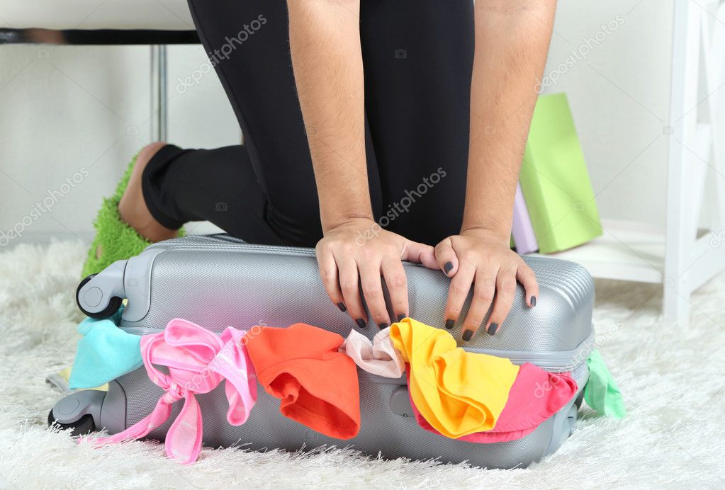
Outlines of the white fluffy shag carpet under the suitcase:
[[376,460],[349,449],[310,454],[204,449],[195,465],[152,442],[92,449],[46,429],[59,394],[43,381],[72,359],[80,243],[0,253],[0,487],[711,487],[725,486],[725,278],[692,298],[689,328],[658,316],[659,286],[597,282],[597,341],[629,416],[583,407],[576,433],[528,469],[482,470]]

